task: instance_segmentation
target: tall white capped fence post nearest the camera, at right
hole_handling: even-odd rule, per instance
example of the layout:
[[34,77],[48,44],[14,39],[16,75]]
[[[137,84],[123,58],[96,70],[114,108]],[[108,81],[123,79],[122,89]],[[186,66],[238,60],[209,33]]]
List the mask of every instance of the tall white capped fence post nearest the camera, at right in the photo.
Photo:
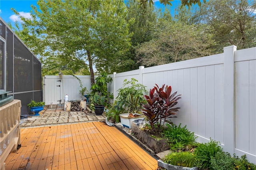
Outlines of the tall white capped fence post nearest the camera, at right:
[[236,46],[224,47],[224,151],[235,150],[235,62]]

